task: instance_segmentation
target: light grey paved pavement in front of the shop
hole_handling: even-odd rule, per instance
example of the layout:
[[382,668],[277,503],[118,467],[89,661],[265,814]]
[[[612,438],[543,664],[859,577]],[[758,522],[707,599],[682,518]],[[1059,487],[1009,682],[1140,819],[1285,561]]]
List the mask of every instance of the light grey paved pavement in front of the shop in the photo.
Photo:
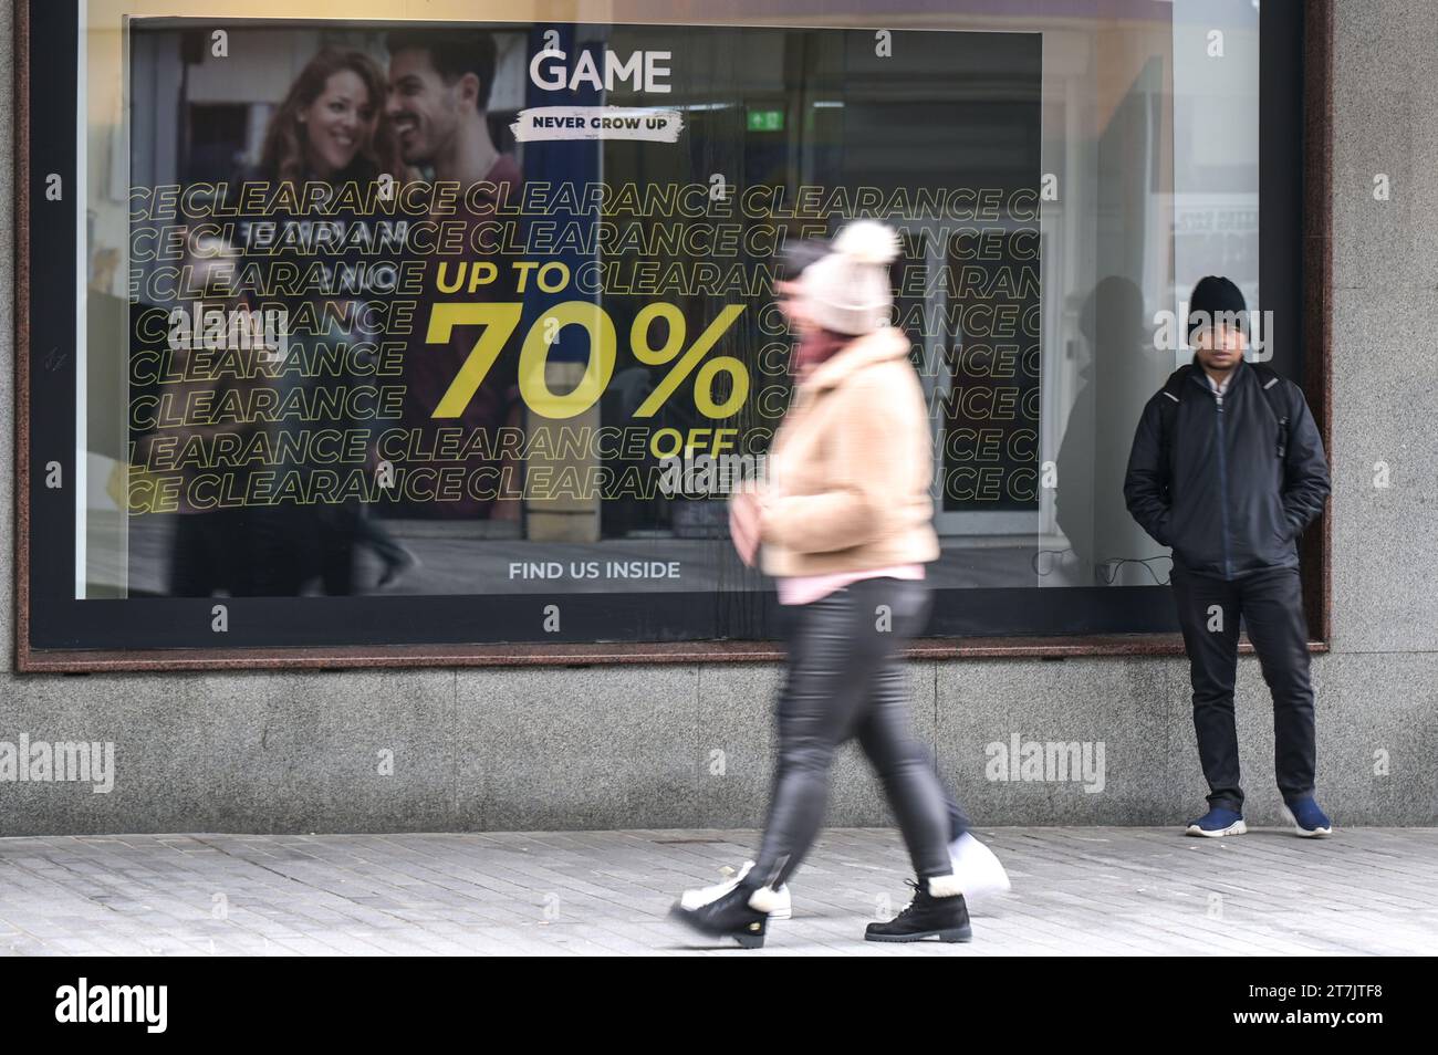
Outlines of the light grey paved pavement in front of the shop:
[[1014,890],[969,944],[877,944],[907,903],[886,829],[830,829],[762,950],[666,920],[752,831],[0,839],[0,953],[119,956],[1311,956],[1438,952],[1438,829],[981,829]]

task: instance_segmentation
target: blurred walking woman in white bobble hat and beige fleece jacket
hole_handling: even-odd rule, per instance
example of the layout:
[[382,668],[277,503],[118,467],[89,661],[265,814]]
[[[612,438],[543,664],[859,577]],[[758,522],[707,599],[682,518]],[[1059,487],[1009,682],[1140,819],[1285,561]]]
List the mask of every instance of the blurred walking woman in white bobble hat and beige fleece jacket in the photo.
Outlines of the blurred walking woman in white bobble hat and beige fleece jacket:
[[889,326],[894,231],[840,231],[804,269],[791,322],[800,336],[795,398],[769,451],[769,482],[738,494],[741,558],[761,553],[792,607],[779,757],[752,868],[712,901],[672,916],[710,937],[764,944],[781,887],[818,837],[834,753],[858,737],[899,818],[917,875],[913,903],[873,941],[969,940],[949,860],[949,818],[929,752],[913,739],[905,645],[923,630],[923,565],[939,556],[929,484],[929,423],[909,339]]

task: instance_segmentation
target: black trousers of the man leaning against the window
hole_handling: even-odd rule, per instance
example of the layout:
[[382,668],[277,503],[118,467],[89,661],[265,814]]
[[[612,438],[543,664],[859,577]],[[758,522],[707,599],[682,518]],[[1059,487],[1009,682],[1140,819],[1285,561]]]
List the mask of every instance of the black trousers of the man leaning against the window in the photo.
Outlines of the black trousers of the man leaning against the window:
[[1209,805],[1241,811],[1244,803],[1234,724],[1240,617],[1273,693],[1278,791],[1287,801],[1310,795],[1316,766],[1313,686],[1299,571],[1274,568],[1225,582],[1173,565],[1172,584],[1188,648],[1194,729]]

